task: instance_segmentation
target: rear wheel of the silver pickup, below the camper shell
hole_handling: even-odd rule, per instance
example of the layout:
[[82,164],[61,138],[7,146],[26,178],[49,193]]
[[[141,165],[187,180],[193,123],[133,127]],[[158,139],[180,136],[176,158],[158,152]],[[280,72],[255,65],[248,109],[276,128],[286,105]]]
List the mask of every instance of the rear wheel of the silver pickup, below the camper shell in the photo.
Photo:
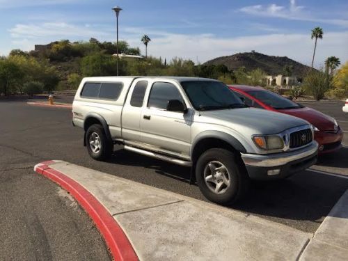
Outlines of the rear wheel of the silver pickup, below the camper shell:
[[103,127],[98,124],[87,129],[86,145],[90,157],[100,161],[110,157],[113,152],[112,143],[106,139]]

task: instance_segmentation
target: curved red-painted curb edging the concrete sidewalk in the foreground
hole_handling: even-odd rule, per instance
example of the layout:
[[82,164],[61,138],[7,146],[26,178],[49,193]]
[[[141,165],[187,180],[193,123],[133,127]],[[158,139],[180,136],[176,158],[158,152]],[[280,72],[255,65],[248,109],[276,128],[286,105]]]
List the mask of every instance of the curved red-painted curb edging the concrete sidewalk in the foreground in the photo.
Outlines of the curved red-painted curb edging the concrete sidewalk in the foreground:
[[79,183],[48,166],[54,162],[55,161],[42,162],[36,165],[34,170],[56,182],[79,202],[81,207],[85,209],[90,218],[93,219],[97,228],[100,230],[107,246],[109,246],[114,260],[139,260],[132,244],[130,244],[116,220],[113,219],[113,216],[111,216],[97,198],[95,198]]

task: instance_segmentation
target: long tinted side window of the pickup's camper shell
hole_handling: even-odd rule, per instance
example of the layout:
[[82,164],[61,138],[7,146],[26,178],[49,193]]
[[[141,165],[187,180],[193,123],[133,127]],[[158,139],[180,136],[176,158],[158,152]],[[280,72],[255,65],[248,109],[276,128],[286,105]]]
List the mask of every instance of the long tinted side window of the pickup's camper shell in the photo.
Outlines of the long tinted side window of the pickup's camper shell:
[[81,97],[117,100],[122,87],[122,83],[86,83],[81,91]]

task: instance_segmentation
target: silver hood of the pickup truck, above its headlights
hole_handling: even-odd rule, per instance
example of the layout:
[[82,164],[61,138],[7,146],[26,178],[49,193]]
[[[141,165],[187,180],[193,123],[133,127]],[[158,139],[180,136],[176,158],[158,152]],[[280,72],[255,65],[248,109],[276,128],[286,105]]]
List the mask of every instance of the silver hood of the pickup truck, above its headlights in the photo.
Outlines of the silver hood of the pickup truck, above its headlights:
[[254,108],[201,111],[200,115],[200,122],[224,125],[238,132],[248,129],[253,134],[277,134],[285,129],[308,124],[300,118]]

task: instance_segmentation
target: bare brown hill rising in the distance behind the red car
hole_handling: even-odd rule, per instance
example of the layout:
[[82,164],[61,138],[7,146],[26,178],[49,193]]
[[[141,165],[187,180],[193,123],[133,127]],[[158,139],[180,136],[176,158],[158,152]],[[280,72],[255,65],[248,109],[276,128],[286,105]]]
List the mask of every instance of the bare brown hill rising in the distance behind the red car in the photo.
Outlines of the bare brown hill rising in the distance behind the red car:
[[285,65],[292,66],[292,75],[303,77],[310,67],[296,62],[287,56],[269,56],[258,52],[245,52],[231,56],[221,56],[204,63],[204,65],[226,65],[228,70],[237,70],[244,66],[247,71],[257,68],[270,75],[283,74]]

